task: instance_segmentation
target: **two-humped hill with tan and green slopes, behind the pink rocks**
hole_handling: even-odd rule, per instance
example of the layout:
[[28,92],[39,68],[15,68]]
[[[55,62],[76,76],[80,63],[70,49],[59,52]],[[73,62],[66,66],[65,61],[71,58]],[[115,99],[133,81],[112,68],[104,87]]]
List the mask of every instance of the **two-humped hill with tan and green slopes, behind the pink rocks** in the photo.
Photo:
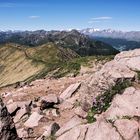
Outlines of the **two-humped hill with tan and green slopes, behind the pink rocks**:
[[59,63],[76,57],[78,55],[70,49],[57,47],[52,43],[36,48],[16,44],[3,45],[0,47],[0,86],[46,75],[57,68]]

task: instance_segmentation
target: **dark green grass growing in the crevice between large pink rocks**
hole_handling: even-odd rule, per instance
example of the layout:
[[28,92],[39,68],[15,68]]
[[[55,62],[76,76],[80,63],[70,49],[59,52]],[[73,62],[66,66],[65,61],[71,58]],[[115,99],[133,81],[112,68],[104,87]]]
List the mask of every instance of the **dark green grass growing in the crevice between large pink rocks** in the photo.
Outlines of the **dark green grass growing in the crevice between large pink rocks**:
[[105,91],[104,94],[97,96],[93,102],[93,107],[88,112],[88,122],[94,122],[94,116],[105,112],[110,107],[114,96],[116,94],[122,94],[124,89],[131,85],[132,82],[130,80],[119,80],[114,86]]

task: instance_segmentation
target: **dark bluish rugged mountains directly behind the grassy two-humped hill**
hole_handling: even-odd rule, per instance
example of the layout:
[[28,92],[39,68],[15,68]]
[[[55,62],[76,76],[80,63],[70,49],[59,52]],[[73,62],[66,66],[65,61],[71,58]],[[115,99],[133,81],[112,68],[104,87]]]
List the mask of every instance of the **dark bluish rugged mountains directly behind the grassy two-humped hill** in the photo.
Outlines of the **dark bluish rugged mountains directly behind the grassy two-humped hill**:
[[18,43],[26,46],[38,46],[52,42],[75,51],[80,56],[112,55],[119,51],[111,45],[96,41],[78,32],[71,31],[25,31],[0,32],[0,43]]

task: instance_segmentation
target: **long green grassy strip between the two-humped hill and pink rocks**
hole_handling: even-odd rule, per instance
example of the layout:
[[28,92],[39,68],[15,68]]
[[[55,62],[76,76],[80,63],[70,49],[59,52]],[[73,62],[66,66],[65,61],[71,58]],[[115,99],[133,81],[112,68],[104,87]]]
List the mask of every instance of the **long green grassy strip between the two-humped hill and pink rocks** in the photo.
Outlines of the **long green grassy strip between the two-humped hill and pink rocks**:
[[40,79],[45,77],[48,73],[58,69],[53,75],[51,75],[54,78],[61,78],[64,76],[67,76],[69,74],[73,74],[74,76],[77,76],[80,72],[81,66],[90,67],[91,62],[99,63],[104,61],[108,62],[114,58],[113,55],[111,56],[87,56],[87,57],[78,57],[73,58],[69,61],[65,62],[58,62],[58,63],[47,63],[46,67],[40,71],[40,73],[33,75],[26,79],[26,81],[30,82],[35,79]]

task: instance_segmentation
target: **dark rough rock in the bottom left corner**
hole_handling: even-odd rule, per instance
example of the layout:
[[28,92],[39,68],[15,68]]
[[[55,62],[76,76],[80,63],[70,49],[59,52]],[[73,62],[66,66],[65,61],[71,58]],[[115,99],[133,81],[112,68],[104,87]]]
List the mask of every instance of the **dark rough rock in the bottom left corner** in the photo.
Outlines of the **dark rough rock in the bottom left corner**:
[[14,122],[0,98],[0,140],[20,140]]

